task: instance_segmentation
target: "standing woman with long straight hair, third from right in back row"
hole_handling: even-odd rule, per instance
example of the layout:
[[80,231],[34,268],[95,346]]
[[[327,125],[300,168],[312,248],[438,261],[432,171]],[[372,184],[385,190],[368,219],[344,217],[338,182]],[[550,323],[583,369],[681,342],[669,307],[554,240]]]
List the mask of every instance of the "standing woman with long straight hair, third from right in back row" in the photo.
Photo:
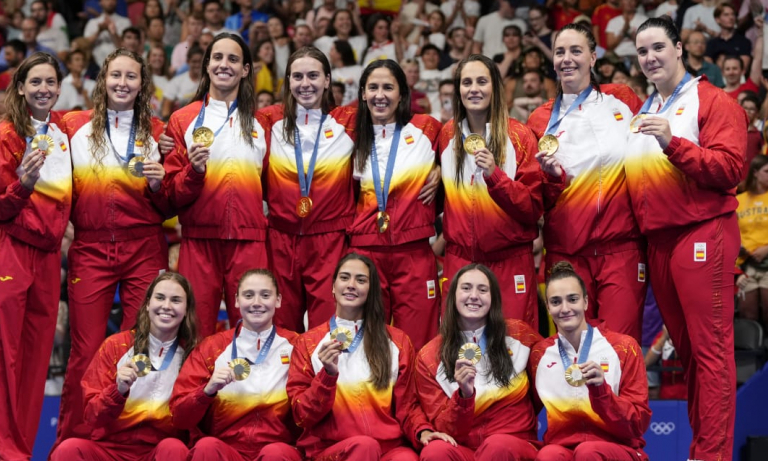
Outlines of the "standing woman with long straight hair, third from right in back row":
[[439,139],[447,242],[443,274],[450,280],[469,263],[484,264],[499,279],[504,317],[535,329],[533,241],[542,213],[536,136],[508,117],[501,75],[489,58],[475,54],[459,62],[454,85],[453,121]]

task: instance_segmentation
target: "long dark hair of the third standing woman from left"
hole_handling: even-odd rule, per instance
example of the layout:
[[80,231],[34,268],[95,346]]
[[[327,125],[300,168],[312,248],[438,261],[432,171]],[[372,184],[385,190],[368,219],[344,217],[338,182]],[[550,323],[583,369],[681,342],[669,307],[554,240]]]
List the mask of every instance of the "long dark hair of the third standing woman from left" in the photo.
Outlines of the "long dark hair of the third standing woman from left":
[[214,37],[210,46],[203,54],[203,72],[200,76],[200,84],[197,86],[197,93],[192,98],[193,101],[203,101],[205,104],[205,95],[211,87],[211,77],[208,75],[208,64],[211,62],[211,50],[213,45],[221,40],[232,40],[240,47],[240,53],[243,55],[243,66],[248,66],[248,75],[240,79],[240,85],[237,89],[237,116],[240,119],[240,136],[249,145],[253,146],[253,114],[256,113],[256,89],[253,87],[253,58],[243,39],[239,35],[230,33],[221,33]]

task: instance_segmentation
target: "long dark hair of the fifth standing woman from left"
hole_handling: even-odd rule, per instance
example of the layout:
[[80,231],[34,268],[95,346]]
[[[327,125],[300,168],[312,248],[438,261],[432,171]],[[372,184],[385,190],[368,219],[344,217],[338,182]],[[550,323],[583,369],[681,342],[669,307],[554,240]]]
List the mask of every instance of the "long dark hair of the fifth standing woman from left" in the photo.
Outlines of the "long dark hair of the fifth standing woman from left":
[[368,64],[363,74],[360,76],[360,88],[357,92],[357,140],[355,141],[355,165],[359,171],[365,169],[365,164],[368,163],[368,157],[371,155],[371,146],[375,140],[373,133],[373,120],[371,119],[371,111],[368,109],[368,104],[363,99],[365,95],[365,87],[368,84],[368,78],[371,76],[374,70],[385,68],[389,69],[392,76],[397,81],[397,86],[400,87],[400,101],[397,104],[395,110],[395,122],[402,126],[408,124],[411,121],[411,89],[408,87],[408,82],[405,80],[405,72],[403,72],[400,65],[391,59],[378,59]]

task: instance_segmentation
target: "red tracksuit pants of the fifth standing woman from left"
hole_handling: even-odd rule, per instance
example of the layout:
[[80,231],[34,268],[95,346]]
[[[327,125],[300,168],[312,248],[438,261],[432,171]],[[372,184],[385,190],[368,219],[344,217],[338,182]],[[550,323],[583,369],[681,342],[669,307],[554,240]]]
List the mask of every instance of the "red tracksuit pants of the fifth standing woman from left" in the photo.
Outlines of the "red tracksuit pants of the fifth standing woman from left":
[[440,289],[437,262],[426,240],[391,247],[352,248],[371,258],[379,271],[384,320],[403,330],[414,350],[437,335]]

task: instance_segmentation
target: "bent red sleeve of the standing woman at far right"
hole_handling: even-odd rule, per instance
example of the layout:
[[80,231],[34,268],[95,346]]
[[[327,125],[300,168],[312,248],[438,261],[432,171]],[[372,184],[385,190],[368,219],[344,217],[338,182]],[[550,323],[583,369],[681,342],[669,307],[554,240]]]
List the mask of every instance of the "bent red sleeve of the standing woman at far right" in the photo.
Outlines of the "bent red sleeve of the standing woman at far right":
[[664,153],[686,176],[708,189],[730,190],[741,181],[747,150],[747,115],[735,99],[699,82],[699,145],[672,136]]

